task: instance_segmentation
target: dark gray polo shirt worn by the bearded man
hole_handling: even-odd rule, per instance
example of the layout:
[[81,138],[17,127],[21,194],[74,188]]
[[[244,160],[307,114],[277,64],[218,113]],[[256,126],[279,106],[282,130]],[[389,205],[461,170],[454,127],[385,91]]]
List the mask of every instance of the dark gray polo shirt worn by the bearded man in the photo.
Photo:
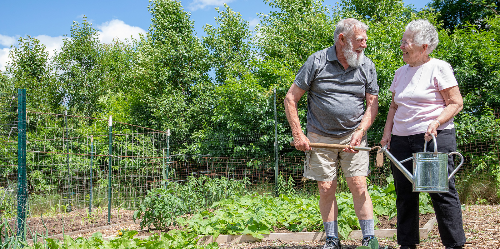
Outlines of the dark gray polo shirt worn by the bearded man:
[[360,66],[344,70],[335,45],[310,55],[293,83],[307,91],[307,131],[329,137],[354,130],[364,113],[365,92],[378,95],[375,64],[363,55]]

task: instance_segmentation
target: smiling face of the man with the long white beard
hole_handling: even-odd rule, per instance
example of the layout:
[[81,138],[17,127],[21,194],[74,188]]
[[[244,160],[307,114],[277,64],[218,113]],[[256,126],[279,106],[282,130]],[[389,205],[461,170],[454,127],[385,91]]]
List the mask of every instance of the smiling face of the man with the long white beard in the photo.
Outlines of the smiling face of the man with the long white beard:
[[353,67],[361,65],[363,49],[366,48],[366,31],[355,29],[352,37],[346,37],[342,48],[347,64]]

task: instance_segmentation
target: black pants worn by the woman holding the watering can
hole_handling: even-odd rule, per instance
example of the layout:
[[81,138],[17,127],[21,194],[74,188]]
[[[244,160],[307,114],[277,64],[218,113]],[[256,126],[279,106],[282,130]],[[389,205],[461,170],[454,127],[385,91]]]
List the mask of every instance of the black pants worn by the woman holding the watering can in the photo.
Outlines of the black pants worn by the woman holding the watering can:
[[[416,135],[392,135],[389,152],[399,161],[411,157],[412,153],[423,152],[424,133]],[[437,152],[450,153],[456,151],[455,129],[438,130],[436,136]],[[434,143],[427,142],[427,150],[434,151]],[[454,169],[454,156],[448,156],[448,173]],[[413,172],[412,160],[403,162],[409,172]],[[413,245],[420,242],[418,232],[418,192],[413,192],[413,185],[391,164],[396,189],[397,208],[397,243]],[[455,177],[448,181],[449,192],[429,193],[437,219],[437,227],[444,246],[458,246],[465,243],[462,212],[458,192],[455,189]]]

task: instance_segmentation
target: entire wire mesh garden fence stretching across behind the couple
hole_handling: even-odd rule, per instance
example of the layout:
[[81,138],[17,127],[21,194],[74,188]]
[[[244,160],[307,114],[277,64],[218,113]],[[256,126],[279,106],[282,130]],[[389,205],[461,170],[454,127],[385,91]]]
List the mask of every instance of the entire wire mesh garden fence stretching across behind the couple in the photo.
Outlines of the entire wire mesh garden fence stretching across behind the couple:
[[[485,196],[491,198],[487,201],[498,201],[499,68],[478,67],[456,77],[469,103],[455,117],[457,151],[465,157],[456,174],[457,188],[465,202],[484,201]],[[390,82],[379,85],[383,90]],[[57,217],[60,212],[88,210],[84,213],[89,222],[80,221],[74,229],[98,225],[90,222],[95,210],[106,210],[108,222],[119,222],[119,209],[134,210],[148,190],[170,182],[184,184],[189,176],[245,179],[251,183],[246,185],[248,191],[274,192],[287,186],[316,194],[316,183],[302,177],[303,152],[289,145],[291,132],[281,104],[286,90],[276,89],[275,95],[268,91],[249,103],[253,109],[242,109],[234,119],[188,132],[27,110],[26,222],[36,223],[33,232],[42,234],[46,229],[42,217]],[[0,95],[0,209],[12,224],[23,210],[18,201],[17,98],[14,93]],[[298,108],[305,123],[305,97]],[[379,113],[368,130],[367,146],[379,145],[385,115]],[[369,184],[385,185],[388,159],[375,167],[375,156],[371,151]],[[346,191],[341,170],[338,179],[338,191]]]

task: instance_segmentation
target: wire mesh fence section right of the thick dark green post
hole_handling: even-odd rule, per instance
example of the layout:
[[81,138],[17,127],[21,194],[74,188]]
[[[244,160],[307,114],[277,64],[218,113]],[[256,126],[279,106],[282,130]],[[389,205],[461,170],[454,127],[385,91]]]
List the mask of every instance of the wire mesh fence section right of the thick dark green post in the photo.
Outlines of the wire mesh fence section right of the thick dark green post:
[[135,208],[166,179],[166,138],[166,131],[127,123],[28,111],[30,212],[55,204]]

